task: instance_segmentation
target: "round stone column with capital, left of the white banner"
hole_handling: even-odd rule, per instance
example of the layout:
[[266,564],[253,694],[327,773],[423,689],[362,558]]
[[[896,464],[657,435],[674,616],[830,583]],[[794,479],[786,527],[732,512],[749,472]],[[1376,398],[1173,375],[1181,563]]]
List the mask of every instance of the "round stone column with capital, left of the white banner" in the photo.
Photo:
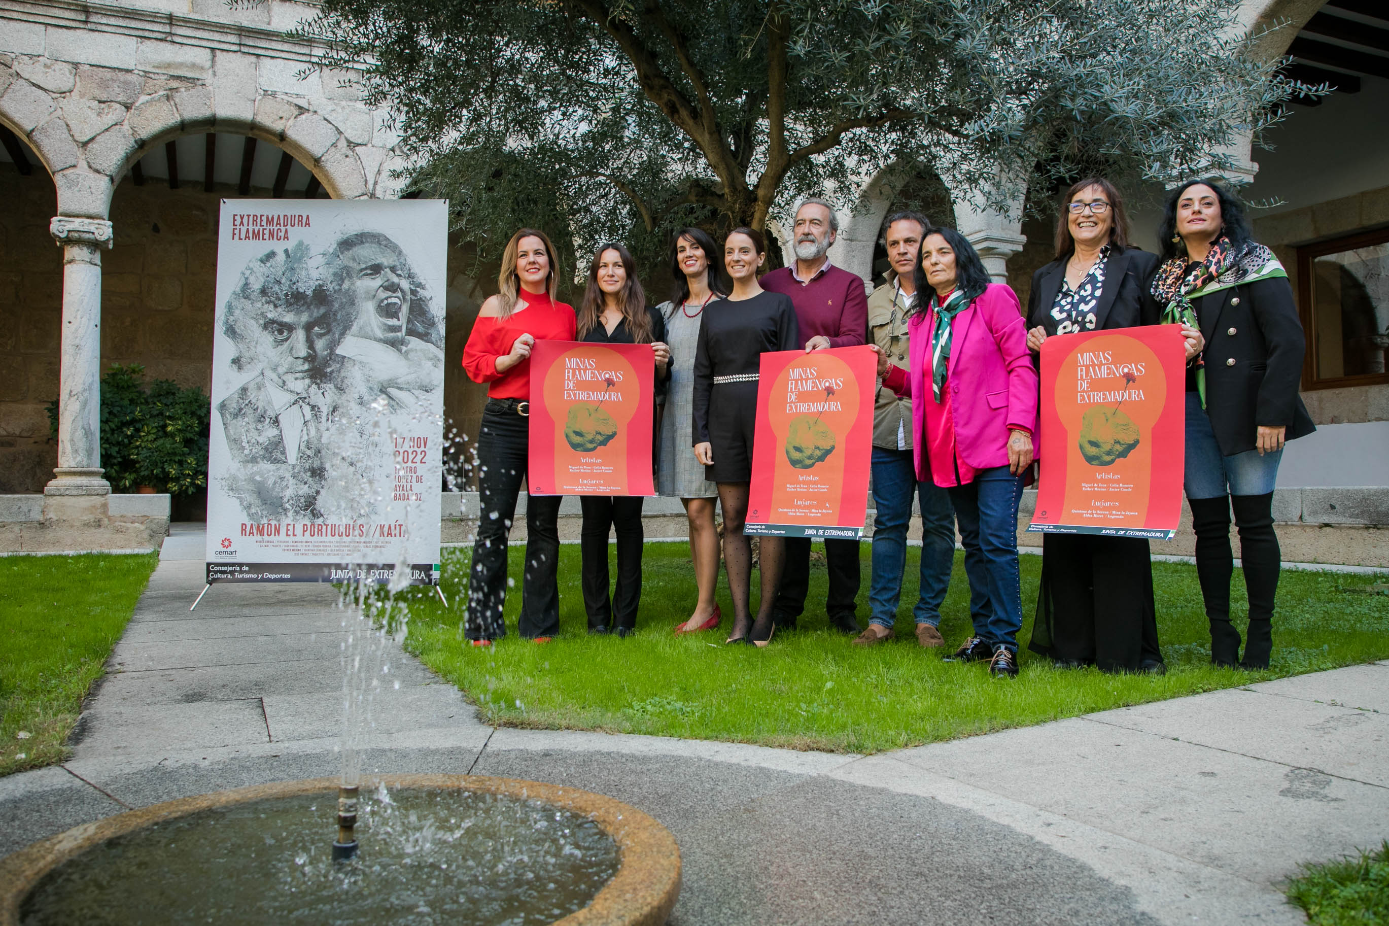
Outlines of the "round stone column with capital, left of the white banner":
[[43,494],[64,512],[50,512],[54,505],[46,503],[44,516],[106,516],[111,485],[101,478],[101,249],[111,247],[111,224],[57,215],[49,232],[64,251],[63,354],[58,466]]

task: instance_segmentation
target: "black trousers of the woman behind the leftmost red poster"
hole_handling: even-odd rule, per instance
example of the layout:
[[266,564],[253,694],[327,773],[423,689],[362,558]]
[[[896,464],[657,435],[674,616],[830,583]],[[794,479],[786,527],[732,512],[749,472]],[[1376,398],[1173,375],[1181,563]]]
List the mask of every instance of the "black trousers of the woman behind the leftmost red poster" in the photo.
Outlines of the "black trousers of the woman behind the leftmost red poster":
[[[589,629],[636,628],[636,608],[642,604],[642,501],[640,496],[579,496],[583,529],[579,548],[583,554],[583,609]],[[617,529],[617,589],[608,598],[607,536]],[[615,618],[615,621],[614,621]]]

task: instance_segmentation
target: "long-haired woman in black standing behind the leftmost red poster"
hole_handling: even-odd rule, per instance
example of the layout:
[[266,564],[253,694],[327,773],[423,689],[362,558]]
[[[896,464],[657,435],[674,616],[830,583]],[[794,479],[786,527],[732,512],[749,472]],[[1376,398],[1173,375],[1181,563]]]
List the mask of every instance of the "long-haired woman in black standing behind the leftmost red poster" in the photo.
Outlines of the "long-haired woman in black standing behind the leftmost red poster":
[[[646,304],[646,293],[636,279],[636,262],[621,244],[603,244],[593,255],[589,286],[579,304],[578,337],[601,344],[650,344],[656,354],[656,394],[664,393],[671,372],[665,319]],[[589,633],[611,630],[625,637],[636,632],[636,609],[642,603],[642,496],[579,496],[579,507],[583,510],[579,553]],[[617,589],[611,598],[607,584],[610,529],[617,530]]]

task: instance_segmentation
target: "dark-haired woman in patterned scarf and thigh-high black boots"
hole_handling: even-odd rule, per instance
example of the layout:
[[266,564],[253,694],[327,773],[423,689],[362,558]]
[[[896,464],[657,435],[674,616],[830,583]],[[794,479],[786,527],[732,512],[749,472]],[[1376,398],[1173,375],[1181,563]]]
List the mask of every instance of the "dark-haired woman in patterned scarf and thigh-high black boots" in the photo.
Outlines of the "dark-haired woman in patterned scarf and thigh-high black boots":
[[[1163,321],[1200,328],[1206,343],[1186,367],[1185,487],[1211,662],[1267,669],[1282,562],[1272,515],[1278,461],[1285,441],[1315,430],[1297,394],[1301,322],[1288,272],[1250,237],[1243,204],[1220,180],[1174,189],[1160,235],[1165,260],[1151,293]],[[1231,508],[1249,594],[1243,658],[1229,622]]]

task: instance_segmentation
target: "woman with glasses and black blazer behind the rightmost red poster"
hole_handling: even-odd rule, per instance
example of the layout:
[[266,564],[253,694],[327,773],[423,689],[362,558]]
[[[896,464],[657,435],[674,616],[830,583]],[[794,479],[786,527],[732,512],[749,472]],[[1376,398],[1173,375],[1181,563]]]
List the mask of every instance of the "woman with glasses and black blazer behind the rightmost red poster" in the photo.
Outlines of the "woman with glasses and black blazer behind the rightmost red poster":
[[[1081,180],[1061,200],[1056,260],[1032,275],[1028,347],[1039,351],[1051,335],[1156,325],[1161,308],[1149,293],[1156,268],[1156,254],[1129,246],[1114,185]],[[1195,357],[1200,332],[1186,335]],[[1047,533],[1042,550],[1028,648],[1063,666],[1164,673],[1147,540]]]

